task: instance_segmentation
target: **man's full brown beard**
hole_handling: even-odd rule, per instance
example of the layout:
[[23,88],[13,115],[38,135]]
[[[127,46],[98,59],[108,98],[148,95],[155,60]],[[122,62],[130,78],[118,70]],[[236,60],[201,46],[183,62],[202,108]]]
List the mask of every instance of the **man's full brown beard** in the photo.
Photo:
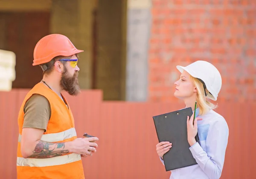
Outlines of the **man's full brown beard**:
[[73,77],[70,77],[67,68],[64,67],[64,71],[61,75],[61,88],[68,92],[72,96],[77,96],[80,93],[80,87],[78,82],[78,71],[76,71]]

